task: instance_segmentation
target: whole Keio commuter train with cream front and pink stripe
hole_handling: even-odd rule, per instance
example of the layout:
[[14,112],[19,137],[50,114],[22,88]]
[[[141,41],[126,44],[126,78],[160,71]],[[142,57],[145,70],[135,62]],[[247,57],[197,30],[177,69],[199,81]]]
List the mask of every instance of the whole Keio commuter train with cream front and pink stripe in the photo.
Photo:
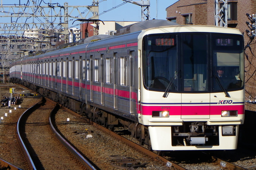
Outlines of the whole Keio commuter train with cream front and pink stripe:
[[147,20],[17,59],[10,80],[149,150],[234,150],[244,123],[237,29]]

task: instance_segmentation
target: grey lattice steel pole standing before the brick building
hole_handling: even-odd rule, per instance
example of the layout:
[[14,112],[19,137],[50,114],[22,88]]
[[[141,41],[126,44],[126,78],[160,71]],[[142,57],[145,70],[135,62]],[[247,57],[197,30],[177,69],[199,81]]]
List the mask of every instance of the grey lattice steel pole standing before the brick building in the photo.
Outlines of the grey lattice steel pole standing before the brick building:
[[214,20],[214,26],[228,27],[228,0],[215,0]]

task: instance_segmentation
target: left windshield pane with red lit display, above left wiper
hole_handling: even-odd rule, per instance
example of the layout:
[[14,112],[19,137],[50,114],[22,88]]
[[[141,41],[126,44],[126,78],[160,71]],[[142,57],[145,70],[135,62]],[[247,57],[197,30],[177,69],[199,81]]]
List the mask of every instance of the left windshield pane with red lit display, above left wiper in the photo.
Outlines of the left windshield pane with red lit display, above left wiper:
[[148,36],[144,41],[144,86],[149,90],[178,90],[177,35]]

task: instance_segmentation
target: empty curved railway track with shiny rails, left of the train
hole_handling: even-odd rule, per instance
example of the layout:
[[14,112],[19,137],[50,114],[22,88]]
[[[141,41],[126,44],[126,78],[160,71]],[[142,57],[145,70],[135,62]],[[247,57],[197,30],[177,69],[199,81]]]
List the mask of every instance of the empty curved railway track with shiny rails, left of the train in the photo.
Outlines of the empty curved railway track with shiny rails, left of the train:
[[[50,114],[56,105],[50,100],[43,100],[28,109],[18,121],[17,129],[21,144],[29,160],[29,169],[96,169],[86,162],[83,156],[78,159],[73,153],[78,151],[67,150],[56,138],[53,123],[49,122]],[[50,128],[51,127],[51,128]],[[55,134],[54,134],[55,133]],[[62,138],[63,139],[63,138]],[[62,143],[67,143],[62,141]],[[89,164],[89,165],[88,165]]]

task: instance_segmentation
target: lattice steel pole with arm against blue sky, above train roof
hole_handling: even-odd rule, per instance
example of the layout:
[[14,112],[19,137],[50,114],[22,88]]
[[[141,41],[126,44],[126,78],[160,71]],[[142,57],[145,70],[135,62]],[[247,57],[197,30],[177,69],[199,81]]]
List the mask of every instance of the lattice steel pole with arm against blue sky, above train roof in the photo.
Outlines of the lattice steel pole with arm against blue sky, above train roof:
[[149,20],[149,7],[150,7],[150,0],[140,0],[140,1],[133,1],[133,0],[123,0],[125,2],[130,2],[135,5],[141,6],[141,21]]

